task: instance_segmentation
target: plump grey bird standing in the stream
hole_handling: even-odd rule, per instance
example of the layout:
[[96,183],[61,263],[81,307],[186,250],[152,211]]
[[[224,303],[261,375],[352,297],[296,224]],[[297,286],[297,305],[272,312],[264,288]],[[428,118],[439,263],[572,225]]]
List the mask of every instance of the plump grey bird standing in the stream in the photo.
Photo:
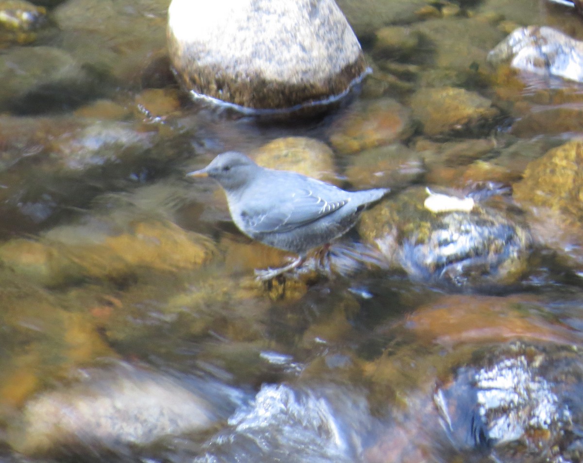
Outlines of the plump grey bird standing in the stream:
[[248,237],[299,255],[282,268],[256,270],[261,280],[296,268],[308,251],[345,234],[368,204],[389,192],[345,191],[295,172],[266,169],[236,151],[187,176],[214,178],[227,195],[233,222]]

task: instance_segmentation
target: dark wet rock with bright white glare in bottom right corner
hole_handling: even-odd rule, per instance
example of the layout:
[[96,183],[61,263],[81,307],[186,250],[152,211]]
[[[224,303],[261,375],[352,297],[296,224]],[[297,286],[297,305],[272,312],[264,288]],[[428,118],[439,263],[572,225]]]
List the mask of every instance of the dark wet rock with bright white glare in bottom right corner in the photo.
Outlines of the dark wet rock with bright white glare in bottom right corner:
[[458,448],[510,462],[580,461],[583,369],[576,348],[514,343],[461,367],[436,393]]

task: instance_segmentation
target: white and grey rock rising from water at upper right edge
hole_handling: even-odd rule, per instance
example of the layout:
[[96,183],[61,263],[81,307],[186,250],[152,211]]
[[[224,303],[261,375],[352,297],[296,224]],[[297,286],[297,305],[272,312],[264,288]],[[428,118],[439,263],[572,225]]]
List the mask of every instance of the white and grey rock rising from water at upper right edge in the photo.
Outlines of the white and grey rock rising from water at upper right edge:
[[490,51],[488,61],[510,61],[519,71],[583,82],[583,43],[552,27],[515,30]]

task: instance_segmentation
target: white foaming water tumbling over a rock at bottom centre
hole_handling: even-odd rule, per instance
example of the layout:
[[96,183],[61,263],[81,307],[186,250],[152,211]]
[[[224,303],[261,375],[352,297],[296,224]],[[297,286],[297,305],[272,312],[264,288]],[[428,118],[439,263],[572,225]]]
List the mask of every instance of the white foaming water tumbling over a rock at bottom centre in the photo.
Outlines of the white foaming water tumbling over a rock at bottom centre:
[[357,392],[267,384],[229,425],[205,444],[195,463],[359,461],[371,419]]

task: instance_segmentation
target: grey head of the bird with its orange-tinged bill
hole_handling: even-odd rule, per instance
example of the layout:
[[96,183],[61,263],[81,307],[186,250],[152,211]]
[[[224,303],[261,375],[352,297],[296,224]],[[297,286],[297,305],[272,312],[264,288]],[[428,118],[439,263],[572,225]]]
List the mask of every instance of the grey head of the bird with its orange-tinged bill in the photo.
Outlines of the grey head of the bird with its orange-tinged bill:
[[214,178],[227,191],[244,187],[261,169],[243,153],[228,151],[215,157],[208,166],[188,173],[187,177]]

